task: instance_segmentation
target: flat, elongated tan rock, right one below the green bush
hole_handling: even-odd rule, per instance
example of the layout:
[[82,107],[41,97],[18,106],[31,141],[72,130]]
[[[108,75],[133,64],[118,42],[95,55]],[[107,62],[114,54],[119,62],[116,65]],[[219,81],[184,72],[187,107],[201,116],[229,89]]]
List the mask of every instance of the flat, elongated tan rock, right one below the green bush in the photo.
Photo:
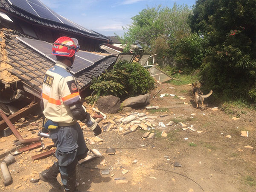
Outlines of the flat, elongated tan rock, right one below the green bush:
[[149,104],[150,94],[139,95],[137,97],[130,97],[125,99],[122,103],[123,107],[141,108]]

